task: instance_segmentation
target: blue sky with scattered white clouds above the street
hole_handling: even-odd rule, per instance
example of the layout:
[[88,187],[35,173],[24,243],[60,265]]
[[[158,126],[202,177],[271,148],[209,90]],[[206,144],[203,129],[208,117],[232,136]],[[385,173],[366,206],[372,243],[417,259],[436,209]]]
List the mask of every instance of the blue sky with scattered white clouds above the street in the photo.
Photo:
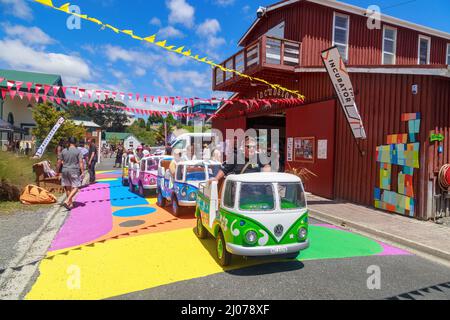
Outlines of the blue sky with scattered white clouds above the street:
[[[65,0],[54,0],[62,5]],[[253,22],[259,0],[74,0],[82,13],[139,35],[159,34],[175,45],[220,62],[237,51]],[[450,32],[449,0],[348,0]],[[384,9],[385,8],[385,9]],[[30,0],[0,0],[0,68],[58,73],[67,86],[162,96],[222,96],[211,92],[211,69],[82,22],[66,27],[68,16]],[[150,108],[151,106],[140,106]],[[154,106],[152,106],[154,108]]]

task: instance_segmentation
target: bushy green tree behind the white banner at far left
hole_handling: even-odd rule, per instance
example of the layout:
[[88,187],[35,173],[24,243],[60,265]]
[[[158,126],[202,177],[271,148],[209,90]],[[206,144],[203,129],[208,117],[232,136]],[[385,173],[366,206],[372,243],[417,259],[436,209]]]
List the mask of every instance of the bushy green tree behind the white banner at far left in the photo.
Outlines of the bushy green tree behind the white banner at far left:
[[61,139],[67,140],[70,137],[75,137],[77,140],[84,139],[86,129],[70,121],[67,112],[57,111],[50,103],[40,103],[33,109],[33,119],[36,122],[36,127],[32,130],[33,135],[39,143],[44,141],[60,117],[63,117],[66,121],[56,131],[49,144],[49,148],[55,147]]

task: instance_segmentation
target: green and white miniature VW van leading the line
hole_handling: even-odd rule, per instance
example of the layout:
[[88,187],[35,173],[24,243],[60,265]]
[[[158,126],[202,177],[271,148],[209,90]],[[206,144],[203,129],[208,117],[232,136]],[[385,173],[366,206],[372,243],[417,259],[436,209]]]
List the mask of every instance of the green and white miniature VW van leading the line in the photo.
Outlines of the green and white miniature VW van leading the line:
[[202,184],[197,197],[197,236],[216,238],[219,263],[231,256],[296,258],[308,248],[308,209],[299,177],[286,173],[228,176]]

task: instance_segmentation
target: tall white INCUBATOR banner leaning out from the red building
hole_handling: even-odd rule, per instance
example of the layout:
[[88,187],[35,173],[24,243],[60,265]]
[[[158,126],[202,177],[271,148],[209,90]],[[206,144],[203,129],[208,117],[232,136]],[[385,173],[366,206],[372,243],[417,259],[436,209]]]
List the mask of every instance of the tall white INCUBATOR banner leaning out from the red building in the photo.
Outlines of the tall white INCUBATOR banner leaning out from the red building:
[[367,139],[366,131],[355,102],[353,85],[337,47],[322,52],[322,60],[330,76],[333,87],[341,102],[347,121],[356,139]]

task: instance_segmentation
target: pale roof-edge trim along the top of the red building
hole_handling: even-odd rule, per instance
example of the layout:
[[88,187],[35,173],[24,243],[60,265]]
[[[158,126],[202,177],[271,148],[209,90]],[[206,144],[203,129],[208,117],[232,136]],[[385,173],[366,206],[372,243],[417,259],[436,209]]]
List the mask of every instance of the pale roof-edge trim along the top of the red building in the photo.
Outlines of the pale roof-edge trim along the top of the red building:
[[[354,6],[354,5],[350,5],[344,2],[340,2],[340,1],[336,1],[336,0],[284,0],[275,4],[272,4],[270,6],[268,6],[267,12],[271,12],[274,10],[278,10],[280,8],[286,7],[288,5],[300,2],[300,1],[309,1],[312,3],[316,3],[319,4],[321,6],[325,6],[325,7],[329,7],[329,8],[333,8],[333,9],[337,9],[337,10],[341,10],[341,11],[345,11],[348,13],[353,13],[353,14],[357,14],[360,16],[366,16],[366,12],[367,9],[365,8],[361,8],[358,6]],[[412,29],[412,30],[416,30],[416,31],[420,31],[424,34],[428,34],[431,36],[435,36],[435,37],[439,37],[439,38],[444,38],[447,40],[450,40],[450,33],[444,32],[444,31],[440,31],[437,29],[433,29],[430,27],[426,27],[423,25],[419,25],[413,22],[409,22],[409,21],[405,21],[399,18],[395,18],[392,16],[388,16],[385,14],[381,14],[381,19],[382,22],[385,23],[389,23],[392,25],[396,25],[396,26],[400,26],[400,27],[404,27],[407,29]],[[239,40],[238,44],[240,46],[242,46],[242,42],[247,38],[247,36],[252,32],[252,30],[256,27],[256,25],[259,23],[259,21],[261,21],[260,18],[257,18],[253,24],[250,26],[250,28],[247,30],[247,32],[242,36],[242,38]]]

